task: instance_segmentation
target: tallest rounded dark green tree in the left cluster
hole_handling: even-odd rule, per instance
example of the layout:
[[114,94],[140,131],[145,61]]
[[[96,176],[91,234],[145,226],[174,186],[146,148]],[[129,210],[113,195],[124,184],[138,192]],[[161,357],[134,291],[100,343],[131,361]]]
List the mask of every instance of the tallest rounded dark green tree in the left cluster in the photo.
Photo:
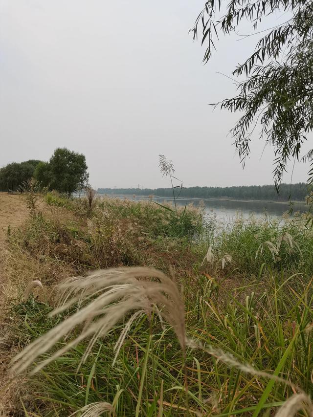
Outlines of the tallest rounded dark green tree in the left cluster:
[[71,195],[88,182],[87,168],[85,155],[71,152],[67,148],[58,148],[51,156],[49,166],[39,169],[45,175],[49,173],[50,189]]

